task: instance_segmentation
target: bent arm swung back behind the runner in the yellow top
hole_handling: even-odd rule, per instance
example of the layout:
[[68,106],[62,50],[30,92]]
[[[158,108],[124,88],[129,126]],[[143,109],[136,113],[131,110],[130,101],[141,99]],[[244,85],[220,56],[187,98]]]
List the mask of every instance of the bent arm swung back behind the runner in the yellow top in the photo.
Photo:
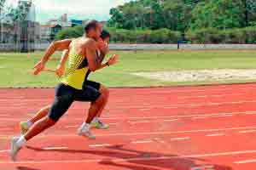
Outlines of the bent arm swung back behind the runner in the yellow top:
[[52,54],[54,54],[56,50],[68,49],[71,42],[72,42],[71,39],[52,42],[49,45],[49,48],[47,48],[43,58],[36,65],[34,65],[35,70],[33,71],[33,74],[38,75],[38,73],[40,71],[43,71],[44,70],[44,65],[49,60],[49,57]]

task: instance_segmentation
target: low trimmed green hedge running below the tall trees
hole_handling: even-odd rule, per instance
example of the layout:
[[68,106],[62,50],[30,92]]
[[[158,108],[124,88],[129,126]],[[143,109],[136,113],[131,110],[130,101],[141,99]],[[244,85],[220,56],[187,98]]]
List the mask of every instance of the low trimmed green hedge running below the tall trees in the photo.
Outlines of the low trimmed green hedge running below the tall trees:
[[[111,42],[116,43],[177,43],[182,39],[181,33],[169,29],[160,30],[124,30],[112,27],[105,28],[111,33]],[[82,26],[67,28],[60,31],[55,39],[81,37],[84,33]],[[256,27],[218,30],[206,28],[187,31],[186,37],[192,43],[255,43]]]

